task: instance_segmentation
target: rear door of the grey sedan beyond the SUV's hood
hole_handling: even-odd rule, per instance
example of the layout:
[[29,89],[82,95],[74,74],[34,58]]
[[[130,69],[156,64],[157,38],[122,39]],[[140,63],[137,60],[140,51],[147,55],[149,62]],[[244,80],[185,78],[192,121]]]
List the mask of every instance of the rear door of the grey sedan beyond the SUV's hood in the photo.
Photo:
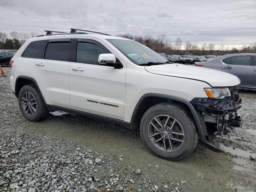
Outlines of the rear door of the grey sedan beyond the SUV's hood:
[[224,58],[222,60],[221,70],[238,76],[241,80],[239,86],[248,88],[252,86],[254,70],[251,55],[237,55]]

